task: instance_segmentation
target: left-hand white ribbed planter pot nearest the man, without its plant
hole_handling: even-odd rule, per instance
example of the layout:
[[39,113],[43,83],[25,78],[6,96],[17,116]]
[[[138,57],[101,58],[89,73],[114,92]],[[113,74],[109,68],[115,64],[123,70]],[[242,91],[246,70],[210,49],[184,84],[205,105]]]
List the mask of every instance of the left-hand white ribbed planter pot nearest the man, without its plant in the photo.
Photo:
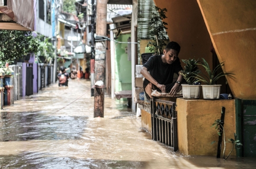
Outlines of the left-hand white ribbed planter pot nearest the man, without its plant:
[[199,99],[201,85],[182,84],[183,99]]

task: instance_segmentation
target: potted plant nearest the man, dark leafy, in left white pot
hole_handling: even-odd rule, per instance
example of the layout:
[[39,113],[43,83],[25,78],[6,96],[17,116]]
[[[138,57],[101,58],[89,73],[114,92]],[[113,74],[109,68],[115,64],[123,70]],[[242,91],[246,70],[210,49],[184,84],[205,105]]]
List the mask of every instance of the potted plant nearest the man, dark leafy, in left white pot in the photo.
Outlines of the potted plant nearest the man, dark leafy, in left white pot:
[[188,84],[182,84],[182,93],[184,99],[198,99],[200,96],[200,86],[195,85],[196,75],[201,71],[197,67],[198,59],[182,59],[186,64],[185,69],[180,72]]

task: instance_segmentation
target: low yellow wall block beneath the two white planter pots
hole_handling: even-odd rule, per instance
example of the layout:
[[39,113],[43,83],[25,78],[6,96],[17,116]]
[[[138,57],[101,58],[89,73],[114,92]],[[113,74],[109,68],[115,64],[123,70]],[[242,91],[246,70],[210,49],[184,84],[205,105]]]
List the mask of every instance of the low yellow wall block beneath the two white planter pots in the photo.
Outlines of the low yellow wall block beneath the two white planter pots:
[[[178,149],[185,155],[216,155],[219,135],[214,120],[220,119],[221,108],[226,108],[224,130],[226,141],[236,132],[235,100],[184,100],[177,99]],[[212,142],[214,142],[212,144]],[[224,142],[222,142],[223,154]],[[226,143],[228,154],[232,144]],[[231,155],[236,155],[234,150]]]

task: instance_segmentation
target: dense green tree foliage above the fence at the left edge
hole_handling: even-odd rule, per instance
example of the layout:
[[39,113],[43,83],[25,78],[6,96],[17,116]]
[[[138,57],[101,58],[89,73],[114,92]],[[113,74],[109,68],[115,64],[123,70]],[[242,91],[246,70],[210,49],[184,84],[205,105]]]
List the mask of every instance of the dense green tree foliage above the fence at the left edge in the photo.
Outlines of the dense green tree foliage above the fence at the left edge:
[[42,36],[34,37],[31,32],[0,30],[0,60],[8,62],[27,53],[37,53]]

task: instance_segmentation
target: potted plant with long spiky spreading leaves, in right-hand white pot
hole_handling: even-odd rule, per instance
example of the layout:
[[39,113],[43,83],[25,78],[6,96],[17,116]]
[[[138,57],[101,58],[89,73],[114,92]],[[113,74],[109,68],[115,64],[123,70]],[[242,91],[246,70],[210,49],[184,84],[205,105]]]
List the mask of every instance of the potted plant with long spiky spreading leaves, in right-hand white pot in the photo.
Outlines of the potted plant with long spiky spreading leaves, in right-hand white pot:
[[[235,74],[221,72],[217,75],[217,70],[219,70],[219,68],[224,66],[224,62],[220,63],[213,71],[211,71],[209,64],[203,58],[202,58],[201,64],[198,64],[198,65],[203,66],[205,68],[205,71],[208,74],[208,76],[205,76],[203,74],[202,74],[202,76],[200,76],[200,75],[196,76],[196,78],[198,78],[198,80],[196,82],[201,81],[206,84],[206,85],[201,85],[202,92],[203,92],[203,99],[208,99],[208,100],[219,99],[221,84],[216,84],[217,80],[222,76],[225,76],[225,75],[232,76]],[[232,76],[232,77],[234,77],[234,76]]]

